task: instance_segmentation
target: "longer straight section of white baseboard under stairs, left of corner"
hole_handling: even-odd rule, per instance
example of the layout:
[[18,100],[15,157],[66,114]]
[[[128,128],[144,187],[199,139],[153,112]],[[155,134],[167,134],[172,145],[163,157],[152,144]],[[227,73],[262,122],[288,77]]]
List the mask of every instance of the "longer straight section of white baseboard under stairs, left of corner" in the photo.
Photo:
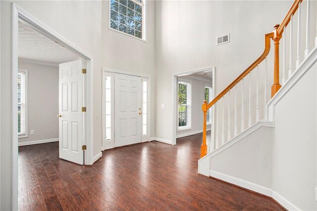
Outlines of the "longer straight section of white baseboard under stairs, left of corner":
[[224,173],[220,173],[218,171],[213,171],[213,170],[210,170],[210,176],[238,185],[240,187],[261,193],[265,196],[272,197],[272,189],[264,187],[262,185],[258,185],[258,184],[255,184],[255,183],[252,183],[237,177],[233,177]]

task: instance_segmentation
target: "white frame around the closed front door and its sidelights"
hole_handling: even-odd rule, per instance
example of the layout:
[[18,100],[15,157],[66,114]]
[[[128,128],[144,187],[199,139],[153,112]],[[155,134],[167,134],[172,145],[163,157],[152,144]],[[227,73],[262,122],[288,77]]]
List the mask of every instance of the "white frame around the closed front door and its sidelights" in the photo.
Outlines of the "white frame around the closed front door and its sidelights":
[[[102,147],[101,147],[101,150],[104,151],[106,149],[112,149],[112,148],[106,148],[106,146],[104,146],[104,142],[103,140],[106,138],[106,134],[104,132],[104,126],[106,126],[106,122],[105,122],[105,119],[104,119],[104,114],[106,112],[106,103],[105,103],[105,100],[106,100],[106,92],[105,92],[105,83],[104,83],[104,78],[106,77],[106,73],[110,73],[112,74],[112,78],[114,78],[114,73],[119,73],[119,74],[124,74],[124,75],[131,75],[131,76],[137,76],[137,77],[142,77],[142,78],[146,78],[147,79],[147,82],[148,82],[148,101],[147,101],[147,134],[148,134],[148,139],[149,140],[143,140],[143,133],[141,134],[141,142],[140,143],[143,143],[143,142],[147,142],[147,141],[150,141],[151,139],[151,77],[149,75],[143,75],[143,74],[135,74],[135,73],[131,73],[131,72],[124,72],[124,71],[119,71],[119,70],[112,70],[112,69],[107,69],[107,68],[102,68],[102,75],[103,75],[103,78],[102,78],[102,81],[103,81],[103,86],[102,86],[102,114],[103,114],[103,120],[102,120],[102,132],[103,132],[103,139],[102,139]],[[115,141],[115,138],[114,138],[114,107],[113,107],[113,104],[114,104],[114,81],[111,82],[111,86],[113,87],[113,89],[111,89],[111,106],[113,109],[111,109],[111,138],[113,137],[113,140]],[[112,88],[111,87],[111,88]],[[143,90],[143,87],[142,87],[142,90]],[[143,100],[143,94],[141,93],[142,95],[142,100]],[[113,124],[112,124],[113,123]],[[141,131],[143,130],[143,127],[141,127]],[[114,147],[113,147],[114,148]]]

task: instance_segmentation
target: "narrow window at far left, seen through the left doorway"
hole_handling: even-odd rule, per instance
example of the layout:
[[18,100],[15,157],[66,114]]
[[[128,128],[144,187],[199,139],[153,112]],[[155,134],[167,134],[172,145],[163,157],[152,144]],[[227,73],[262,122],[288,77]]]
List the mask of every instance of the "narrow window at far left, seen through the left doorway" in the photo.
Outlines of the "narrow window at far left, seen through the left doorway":
[[27,128],[27,70],[18,71],[18,135],[28,137]]

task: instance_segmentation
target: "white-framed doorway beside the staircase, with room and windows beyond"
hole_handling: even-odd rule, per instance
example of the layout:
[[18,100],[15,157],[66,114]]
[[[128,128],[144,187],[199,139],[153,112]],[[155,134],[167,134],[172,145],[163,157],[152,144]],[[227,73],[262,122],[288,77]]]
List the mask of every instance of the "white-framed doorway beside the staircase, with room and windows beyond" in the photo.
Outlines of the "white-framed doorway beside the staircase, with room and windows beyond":
[[[173,74],[172,145],[178,138],[203,132],[202,104],[214,97],[214,76],[214,67]],[[213,116],[211,109],[207,113],[208,131],[213,129]],[[212,137],[209,140],[211,145]]]

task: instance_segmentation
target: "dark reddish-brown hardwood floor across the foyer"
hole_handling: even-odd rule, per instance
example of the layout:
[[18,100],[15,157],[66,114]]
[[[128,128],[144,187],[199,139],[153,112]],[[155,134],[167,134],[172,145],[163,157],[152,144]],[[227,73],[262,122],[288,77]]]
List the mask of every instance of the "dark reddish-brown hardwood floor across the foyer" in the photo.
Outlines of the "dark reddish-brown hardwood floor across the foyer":
[[283,210],[271,199],[197,173],[202,134],[107,150],[91,166],[58,143],[19,148],[19,210]]

